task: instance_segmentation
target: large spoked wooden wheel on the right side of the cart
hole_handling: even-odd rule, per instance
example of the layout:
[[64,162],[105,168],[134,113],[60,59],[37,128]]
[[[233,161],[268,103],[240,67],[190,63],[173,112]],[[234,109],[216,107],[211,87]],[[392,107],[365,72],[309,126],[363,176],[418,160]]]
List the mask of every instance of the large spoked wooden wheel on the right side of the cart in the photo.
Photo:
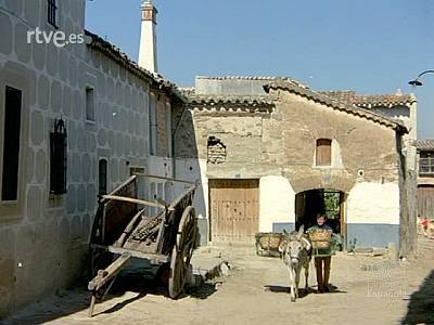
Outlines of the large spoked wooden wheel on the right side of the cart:
[[183,289],[196,238],[194,209],[188,206],[179,222],[176,244],[170,257],[169,296],[177,298]]

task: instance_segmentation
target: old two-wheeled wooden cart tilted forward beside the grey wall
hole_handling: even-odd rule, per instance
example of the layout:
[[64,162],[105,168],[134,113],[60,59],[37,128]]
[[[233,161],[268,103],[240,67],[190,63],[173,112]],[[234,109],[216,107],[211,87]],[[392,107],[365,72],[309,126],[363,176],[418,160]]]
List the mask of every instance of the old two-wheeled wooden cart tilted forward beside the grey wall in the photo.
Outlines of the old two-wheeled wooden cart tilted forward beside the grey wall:
[[[148,179],[183,183],[184,191],[170,204],[146,202],[138,198],[138,192]],[[195,188],[192,182],[137,173],[100,198],[90,237],[94,277],[88,285],[92,295],[89,316],[94,303],[103,299],[132,257],[146,259],[154,265],[169,265],[169,297],[175,299],[181,294],[195,248],[196,219],[192,208]]]

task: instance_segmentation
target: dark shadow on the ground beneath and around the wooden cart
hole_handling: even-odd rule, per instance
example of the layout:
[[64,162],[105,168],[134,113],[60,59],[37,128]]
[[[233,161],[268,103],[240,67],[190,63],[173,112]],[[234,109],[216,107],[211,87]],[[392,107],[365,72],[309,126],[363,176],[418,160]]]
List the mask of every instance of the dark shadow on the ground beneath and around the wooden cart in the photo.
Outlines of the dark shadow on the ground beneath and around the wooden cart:
[[[157,295],[168,297],[168,286],[164,285],[156,280],[157,268],[151,268],[143,264],[142,260],[131,260],[130,264],[123,270],[113,283],[108,294],[104,297],[103,301],[114,298],[123,297],[126,292],[133,292],[125,297],[122,301],[105,310],[99,308],[99,314],[115,313],[128,304],[144,298],[146,295]],[[204,282],[200,286],[189,288],[186,294],[181,295],[178,299],[184,297],[193,297],[197,299],[206,299],[217,291],[216,286],[219,282]],[[0,322],[0,324],[41,324],[49,321],[58,320],[69,314],[87,311],[90,304],[90,292],[87,289],[88,278],[81,278],[73,287],[67,290],[58,292],[51,298],[47,298],[40,302],[35,302],[18,311],[13,316]]]

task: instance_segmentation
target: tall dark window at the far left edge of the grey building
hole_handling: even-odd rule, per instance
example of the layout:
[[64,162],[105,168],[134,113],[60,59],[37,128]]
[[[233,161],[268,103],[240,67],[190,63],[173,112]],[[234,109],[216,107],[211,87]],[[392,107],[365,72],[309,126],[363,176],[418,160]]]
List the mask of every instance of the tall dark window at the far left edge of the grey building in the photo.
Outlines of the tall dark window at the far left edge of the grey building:
[[4,145],[1,199],[16,200],[18,196],[18,165],[21,135],[22,91],[12,87],[5,89]]

